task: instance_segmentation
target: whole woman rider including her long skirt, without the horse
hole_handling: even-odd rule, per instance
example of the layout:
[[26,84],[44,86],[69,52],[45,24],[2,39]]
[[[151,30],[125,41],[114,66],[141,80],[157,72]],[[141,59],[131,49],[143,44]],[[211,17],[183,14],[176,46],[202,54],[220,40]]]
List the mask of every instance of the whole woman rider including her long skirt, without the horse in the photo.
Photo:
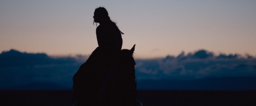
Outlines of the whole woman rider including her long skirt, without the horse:
[[113,22],[105,8],[94,12],[98,47],[73,76],[73,105],[101,105],[108,74],[114,70],[117,57],[122,48],[123,34]]

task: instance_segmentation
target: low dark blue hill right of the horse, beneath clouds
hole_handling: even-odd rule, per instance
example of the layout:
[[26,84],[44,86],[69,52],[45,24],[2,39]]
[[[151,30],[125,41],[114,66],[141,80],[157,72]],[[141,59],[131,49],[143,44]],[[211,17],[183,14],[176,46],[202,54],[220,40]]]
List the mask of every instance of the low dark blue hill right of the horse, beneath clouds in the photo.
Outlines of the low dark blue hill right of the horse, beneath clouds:
[[139,80],[141,90],[256,90],[256,77],[221,77],[199,80]]

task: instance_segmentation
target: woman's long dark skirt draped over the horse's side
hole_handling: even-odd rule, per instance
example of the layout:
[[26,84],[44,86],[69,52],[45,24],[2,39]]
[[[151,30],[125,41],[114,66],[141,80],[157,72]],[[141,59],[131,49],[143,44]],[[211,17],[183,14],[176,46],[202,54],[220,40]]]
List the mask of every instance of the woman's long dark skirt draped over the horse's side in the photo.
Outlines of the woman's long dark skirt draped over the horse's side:
[[118,51],[97,47],[73,76],[73,104],[100,105],[105,74],[111,69]]

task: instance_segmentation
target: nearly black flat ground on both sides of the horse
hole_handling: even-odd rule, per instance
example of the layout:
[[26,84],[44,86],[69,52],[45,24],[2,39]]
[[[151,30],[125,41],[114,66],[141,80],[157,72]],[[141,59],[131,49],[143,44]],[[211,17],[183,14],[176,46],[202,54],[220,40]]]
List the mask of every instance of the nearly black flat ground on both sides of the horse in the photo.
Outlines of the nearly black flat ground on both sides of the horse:
[[[0,105],[71,105],[72,91],[0,91]],[[256,105],[256,91],[139,90],[145,106]]]

